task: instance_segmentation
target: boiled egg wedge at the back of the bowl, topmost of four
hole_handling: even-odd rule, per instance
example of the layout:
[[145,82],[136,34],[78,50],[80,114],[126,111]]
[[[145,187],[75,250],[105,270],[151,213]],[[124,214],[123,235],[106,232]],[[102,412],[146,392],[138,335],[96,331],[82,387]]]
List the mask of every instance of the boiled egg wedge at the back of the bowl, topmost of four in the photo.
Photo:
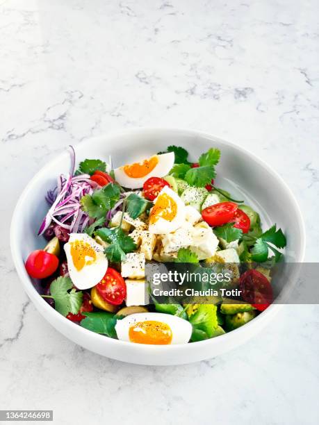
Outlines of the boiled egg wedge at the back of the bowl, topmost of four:
[[114,170],[115,180],[124,188],[138,189],[149,177],[163,177],[174,165],[174,152],[151,156],[140,163],[123,165]]

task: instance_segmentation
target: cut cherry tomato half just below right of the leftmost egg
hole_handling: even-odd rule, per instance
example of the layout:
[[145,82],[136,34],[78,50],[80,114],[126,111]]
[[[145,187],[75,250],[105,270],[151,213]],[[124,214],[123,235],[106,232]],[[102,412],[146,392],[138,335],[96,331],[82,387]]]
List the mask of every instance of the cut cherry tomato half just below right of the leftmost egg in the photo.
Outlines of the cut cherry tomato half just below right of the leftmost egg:
[[98,294],[104,301],[119,306],[126,297],[124,278],[115,269],[108,267],[104,278],[96,286]]

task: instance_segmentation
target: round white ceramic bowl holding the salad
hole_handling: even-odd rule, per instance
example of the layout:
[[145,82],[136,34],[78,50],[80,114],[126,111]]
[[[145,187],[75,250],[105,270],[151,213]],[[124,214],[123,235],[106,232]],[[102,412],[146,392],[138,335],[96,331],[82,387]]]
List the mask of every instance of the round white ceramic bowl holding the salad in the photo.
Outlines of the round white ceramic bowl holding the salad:
[[[261,215],[263,226],[277,223],[287,235],[286,261],[302,262],[305,245],[304,223],[291,190],[269,165],[235,144],[198,131],[137,128],[82,142],[75,147],[76,161],[85,158],[107,160],[111,155],[113,165],[119,166],[163,151],[170,144],[185,147],[193,160],[208,148],[218,147],[222,155],[217,167],[216,185],[230,190],[234,197],[243,198],[245,203],[256,208]],[[229,351],[252,338],[275,316],[279,305],[270,306],[252,322],[236,331],[211,340],[153,346],[106,338],[70,322],[57,313],[38,294],[26,274],[24,261],[31,251],[44,247],[44,239],[37,236],[48,208],[44,195],[48,189],[54,187],[60,173],[69,172],[69,167],[67,151],[43,167],[19,198],[11,223],[11,249],[19,278],[40,314],[60,333],[86,349],[116,360],[140,365],[177,365],[212,358]]]

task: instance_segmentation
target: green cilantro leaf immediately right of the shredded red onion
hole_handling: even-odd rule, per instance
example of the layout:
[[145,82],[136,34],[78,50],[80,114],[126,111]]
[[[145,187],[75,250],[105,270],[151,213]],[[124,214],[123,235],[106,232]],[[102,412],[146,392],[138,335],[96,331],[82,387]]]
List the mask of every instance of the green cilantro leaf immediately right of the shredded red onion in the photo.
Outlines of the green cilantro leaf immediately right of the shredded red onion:
[[81,198],[81,206],[85,213],[92,218],[105,217],[120,199],[120,186],[108,183],[104,188],[95,190],[92,195],[87,194]]

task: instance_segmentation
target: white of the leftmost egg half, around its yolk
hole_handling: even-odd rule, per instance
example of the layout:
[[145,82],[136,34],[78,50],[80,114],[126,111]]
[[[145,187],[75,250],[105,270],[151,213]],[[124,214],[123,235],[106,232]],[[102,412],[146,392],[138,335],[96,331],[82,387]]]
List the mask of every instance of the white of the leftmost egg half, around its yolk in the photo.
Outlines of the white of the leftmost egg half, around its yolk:
[[[85,265],[83,269],[77,270],[74,266],[72,255],[71,255],[71,242],[76,240],[81,240],[83,242],[88,242],[90,247],[95,250],[96,260],[90,265]],[[92,288],[97,285],[101,278],[106,274],[108,269],[108,260],[103,252],[103,247],[99,245],[93,238],[91,238],[86,233],[70,233],[69,242],[64,246],[65,254],[67,256],[67,267],[69,269],[69,277],[72,280],[72,283],[79,290],[85,290]]]

